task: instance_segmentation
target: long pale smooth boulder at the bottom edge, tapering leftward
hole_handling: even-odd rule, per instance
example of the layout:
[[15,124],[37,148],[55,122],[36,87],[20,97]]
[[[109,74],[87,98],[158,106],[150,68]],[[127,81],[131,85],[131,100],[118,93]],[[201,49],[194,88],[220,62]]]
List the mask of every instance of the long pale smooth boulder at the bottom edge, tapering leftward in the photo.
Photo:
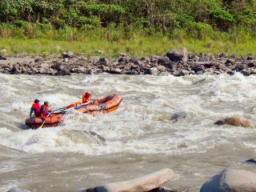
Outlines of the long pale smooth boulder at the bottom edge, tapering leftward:
[[163,183],[174,177],[174,171],[168,168],[147,174],[141,178],[134,178],[125,182],[112,182],[87,189],[90,192],[144,192],[157,189]]

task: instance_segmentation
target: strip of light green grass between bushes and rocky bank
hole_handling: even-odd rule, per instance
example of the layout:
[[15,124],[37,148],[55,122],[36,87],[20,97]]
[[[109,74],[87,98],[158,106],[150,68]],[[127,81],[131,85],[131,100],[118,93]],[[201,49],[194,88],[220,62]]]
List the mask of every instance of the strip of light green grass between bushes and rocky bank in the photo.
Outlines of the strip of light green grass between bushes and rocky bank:
[[[59,46],[60,49],[56,49]],[[166,37],[134,37],[129,40],[118,39],[107,41],[106,38],[86,36],[81,41],[68,42],[52,39],[24,39],[24,38],[0,38],[0,50],[6,49],[7,56],[26,52],[30,56],[57,56],[66,50],[72,50],[78,55],[98,55],[102,50],[102,57],[118,58],[118,54],[126,53],[129,57],[146,57],[152,54],[164,55],[170,49],[178,49],[185,46],[194,54],[235,54],[238,56],[256,55],[256,40],[228,41],[223,40],[195,40],[195,39],[170,39]],[[1,53],[0,53],[1,54]]]

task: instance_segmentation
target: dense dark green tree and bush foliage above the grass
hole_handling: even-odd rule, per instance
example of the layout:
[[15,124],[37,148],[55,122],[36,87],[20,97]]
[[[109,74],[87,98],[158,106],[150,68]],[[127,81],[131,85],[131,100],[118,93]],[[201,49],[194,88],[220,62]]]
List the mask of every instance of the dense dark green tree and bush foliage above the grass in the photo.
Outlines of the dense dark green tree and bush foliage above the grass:
[[[256,30],[255,0],[1,0],[0,22],[29,23],[90,30],[95,27],[137,26],[171,33],[177,29]],[[154,30],[153,30],[154,29]]]

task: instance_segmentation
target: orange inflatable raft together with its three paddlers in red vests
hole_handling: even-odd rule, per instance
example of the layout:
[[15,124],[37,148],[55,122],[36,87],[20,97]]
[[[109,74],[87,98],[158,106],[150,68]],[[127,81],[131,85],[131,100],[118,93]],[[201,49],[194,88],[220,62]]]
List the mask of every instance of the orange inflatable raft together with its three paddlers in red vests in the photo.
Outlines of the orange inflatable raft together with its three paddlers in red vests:
[[30,118],[26,118],[26,126],[32,129],[59,126],[71,110],[85,114],[107,114],[117,110],[122,102],[122,96],[118,94],[101,99],[91,99],[90,96],[91,94],[86,92],[86,94],[82,94],[82,102],[74,102],[54,111],[49,109],[49,102],[44,102],[40,106],[39,100],[35,99],[30,109]]

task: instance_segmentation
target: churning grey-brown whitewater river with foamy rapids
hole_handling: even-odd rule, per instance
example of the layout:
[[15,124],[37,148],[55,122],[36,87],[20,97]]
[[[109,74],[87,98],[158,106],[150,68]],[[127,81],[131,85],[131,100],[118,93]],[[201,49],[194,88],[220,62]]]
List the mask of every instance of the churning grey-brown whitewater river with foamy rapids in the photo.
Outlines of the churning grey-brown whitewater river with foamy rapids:
[[[164,186],[199,191],[223,169],[256,172],[254,126],[215,126],[232,115],[256,118],[256,76],[68,77],[0,74],[0,191],[78,191],[174,170]],[[110,114],[69,114],[62,126],[26,129],[35,98],[58,109],[121,94]],[[94,131],[97,135],[88,134]]]

